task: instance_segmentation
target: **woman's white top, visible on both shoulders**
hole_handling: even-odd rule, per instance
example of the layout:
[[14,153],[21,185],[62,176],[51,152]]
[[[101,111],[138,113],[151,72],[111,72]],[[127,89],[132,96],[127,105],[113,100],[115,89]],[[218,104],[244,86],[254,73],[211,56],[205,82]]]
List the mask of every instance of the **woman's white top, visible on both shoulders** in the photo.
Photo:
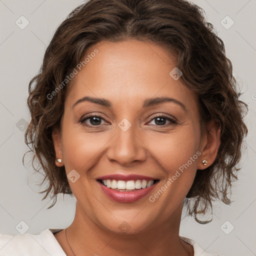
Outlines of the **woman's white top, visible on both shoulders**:
[[[53,233],[62,229],[45,229],[39,234],[0,234],[0,256],[66,256]],[[180,236],[194,248],[194,256],[218,256],[206,253],[192,239]]]

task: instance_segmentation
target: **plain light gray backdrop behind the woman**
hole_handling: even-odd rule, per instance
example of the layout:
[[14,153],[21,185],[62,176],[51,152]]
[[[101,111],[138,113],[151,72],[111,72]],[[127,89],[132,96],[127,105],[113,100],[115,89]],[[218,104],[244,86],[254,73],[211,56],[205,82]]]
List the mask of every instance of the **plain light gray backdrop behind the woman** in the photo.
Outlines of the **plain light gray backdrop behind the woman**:
[[[226,54],[233,64],[233,74],[248,103],[246,124],[247,149],[241,160],[239,180],[232,189],[231,205],[215,203],[213,220],[206,225],[193,218],[181,221],[180,235],[194,239],[203,249],[221,255],[256,255],[256,157],[255,105],[255,24],[256,0],[194,0],[223,39]],[[0,233],[17,234],[21,220],[39,233],[46,228],[64,228],[74,217],[75,198],[58,196],[51,209],[50,198],[36,183],[41,174],[33,174],[29,164],[22,165],[27,150],[23,141],[29,113],[26,107],[29,80],[37,73],[46,45],[55,29],[79,0],[0,0]],[[29,24],[20,29],[15,21],[23,15]],[[221,20],[228,15],[234,24],[226,29]],[[222,22],[230,25],[231,21]],[[24,20],[22,22],[24,24]],[[228,221],[228,222],[225,222]],[[223,224],[224,223],[224,224]],[[230,232],[232,226],[234,229]],[[229,234],[226,234],[229,232]]]

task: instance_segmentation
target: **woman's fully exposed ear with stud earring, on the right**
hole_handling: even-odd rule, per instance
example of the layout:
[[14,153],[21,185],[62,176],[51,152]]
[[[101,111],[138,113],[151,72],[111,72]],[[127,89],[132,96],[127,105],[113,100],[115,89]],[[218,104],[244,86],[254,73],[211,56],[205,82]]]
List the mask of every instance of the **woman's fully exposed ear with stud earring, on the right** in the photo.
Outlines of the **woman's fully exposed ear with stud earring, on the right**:
[[[204,128],[201,136],[200,148],[201,152],[199,161],[197,162],[197,169],[205,169],[209,167],[216,159],[218,147],[220,145],[220,123],[210,120]],[[207,160],[207,165],[202,164],[202,160]]]

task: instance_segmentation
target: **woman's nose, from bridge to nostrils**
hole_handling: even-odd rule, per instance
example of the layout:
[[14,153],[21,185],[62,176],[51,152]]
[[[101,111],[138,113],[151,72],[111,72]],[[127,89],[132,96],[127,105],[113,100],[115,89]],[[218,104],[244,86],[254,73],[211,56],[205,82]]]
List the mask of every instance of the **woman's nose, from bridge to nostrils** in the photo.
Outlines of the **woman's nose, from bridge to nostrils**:
[[109,143],[107,158],[110,161],[116,161],[120,165],[129,165],[134,161],[146,159],[146,144],[140,132],[132,125],[126,131],[117,126],[116,134]]

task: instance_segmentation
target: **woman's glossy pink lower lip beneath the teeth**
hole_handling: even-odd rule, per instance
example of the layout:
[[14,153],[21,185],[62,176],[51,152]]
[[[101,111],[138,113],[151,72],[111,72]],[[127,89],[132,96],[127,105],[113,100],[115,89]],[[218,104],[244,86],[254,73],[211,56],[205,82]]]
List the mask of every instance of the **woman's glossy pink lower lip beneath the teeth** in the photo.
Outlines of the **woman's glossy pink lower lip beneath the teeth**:
[[101,189],[103,190],[103,192],[106,194],[106,196],[108,196],[110,199],[117,202],[134,202],[144,197],[145,195],[147,195],[157,184],[156,182],[149,187],[126,192],[126,191],[116,191],[112,188],[108,188],[103,184],[101,184],[99,181],[98,183]]

